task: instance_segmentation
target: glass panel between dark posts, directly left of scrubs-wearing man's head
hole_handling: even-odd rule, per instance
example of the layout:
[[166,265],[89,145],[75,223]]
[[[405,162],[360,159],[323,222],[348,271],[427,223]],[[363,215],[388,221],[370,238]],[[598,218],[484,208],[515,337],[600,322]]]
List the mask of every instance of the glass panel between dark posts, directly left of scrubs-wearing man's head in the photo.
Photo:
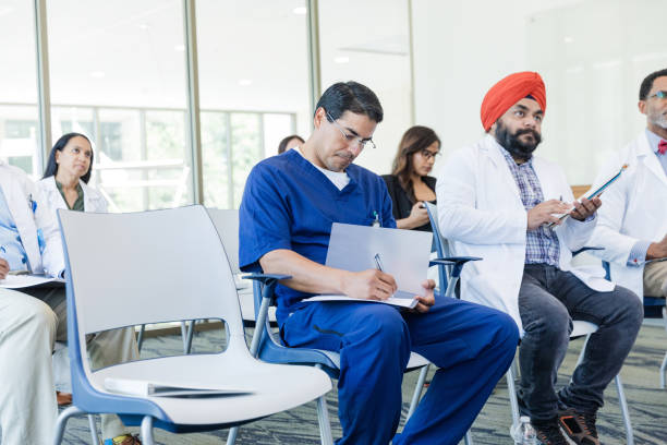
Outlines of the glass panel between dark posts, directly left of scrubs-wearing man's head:
[[204,202],[238,207],[251,168],[311,128],[305,3],[197,0],[196,12]]

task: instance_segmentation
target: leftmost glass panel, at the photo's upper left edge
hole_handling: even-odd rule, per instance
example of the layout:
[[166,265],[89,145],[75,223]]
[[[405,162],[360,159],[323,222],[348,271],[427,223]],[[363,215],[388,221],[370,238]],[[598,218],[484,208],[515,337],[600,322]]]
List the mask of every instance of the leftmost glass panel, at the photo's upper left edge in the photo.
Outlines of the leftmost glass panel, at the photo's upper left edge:
[[40,173],[33,4],[0,2],[0,158]]

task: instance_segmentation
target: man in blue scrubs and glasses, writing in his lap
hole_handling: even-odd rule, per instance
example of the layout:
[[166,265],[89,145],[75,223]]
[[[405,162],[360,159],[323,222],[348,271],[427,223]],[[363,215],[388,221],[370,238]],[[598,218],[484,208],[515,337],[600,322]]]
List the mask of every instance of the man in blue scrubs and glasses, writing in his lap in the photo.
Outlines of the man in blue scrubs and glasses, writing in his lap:
[[[518,329],[506,314],[434,298],[433,280],[413,311],[384,300],[393,278],[368,269],[324,266],[332,222],[396,227],[380,177],[352,164],[373,149],[383,120],[377,96],[355,82],[337,83],[319,99],[311,137],[263,160],[251,172],[240,209],[243,270],[292,276],[276,289],[277,318],[288,346],[340,352],[338,444],[457,444],[509,368]],[[371,148],[373,147],[373,148]],[[360,302],[302,302],[342,293]],[[401,434],[401,382],[410,352],[438,366]]]

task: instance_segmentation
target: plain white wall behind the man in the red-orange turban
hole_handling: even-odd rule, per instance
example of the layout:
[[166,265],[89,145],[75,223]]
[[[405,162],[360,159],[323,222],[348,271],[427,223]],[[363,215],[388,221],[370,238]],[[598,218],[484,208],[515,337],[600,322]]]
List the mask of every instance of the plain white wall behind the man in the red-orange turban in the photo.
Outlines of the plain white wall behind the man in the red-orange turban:
[[666,1],[412,4],[415,123],[438,132],[445,158],[483,135],[484,94],[516,71],[543,75],[547,111],[537,153],[559,163],[572,184],[593,181],[606,155],[644,128],[636,96],[646,74],[667,68]]

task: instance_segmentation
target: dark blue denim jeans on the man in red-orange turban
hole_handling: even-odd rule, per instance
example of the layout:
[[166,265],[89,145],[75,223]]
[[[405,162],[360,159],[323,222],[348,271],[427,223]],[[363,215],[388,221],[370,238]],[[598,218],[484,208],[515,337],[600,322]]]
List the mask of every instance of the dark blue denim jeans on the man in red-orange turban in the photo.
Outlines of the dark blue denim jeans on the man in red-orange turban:
[[[519,397],[531,419],[557,416],[559,406],[595,412],[603,393],[620,371],[641,327],[643,305],[630,290],[589,288],[569,272],[546,264],[526,264],[519,290],[519,312],[525,335],[519,349]],[[565,359],[572,320],[598,326],[591,335],[582,363],[558,394],[554,385]]]

